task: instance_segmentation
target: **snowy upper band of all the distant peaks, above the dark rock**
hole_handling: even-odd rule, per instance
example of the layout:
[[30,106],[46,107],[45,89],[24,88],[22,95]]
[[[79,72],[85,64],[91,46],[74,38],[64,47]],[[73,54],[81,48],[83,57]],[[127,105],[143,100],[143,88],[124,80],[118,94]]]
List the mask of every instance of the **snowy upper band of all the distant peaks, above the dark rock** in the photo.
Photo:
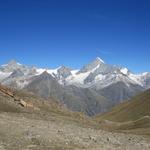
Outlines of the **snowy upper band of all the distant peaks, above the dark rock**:
[[[15,81],[18,83],[18,87],[23,88],[34,76],[40,75],[44,71],[47,71],[63,85],[101,89],[121,81],[127,86],[137,84],[144,88],[150,88],[150,73],[133,74],[127,68],[105,64],[99,57],[80,70],[73,70],[65,66],[56,69],[41,69],[28,67],[12,60],[0,67],[0,81],[4,84],[7,84],[8,81],[9,84],[11,81]],[[20,86],[21,83],[22,86]]]

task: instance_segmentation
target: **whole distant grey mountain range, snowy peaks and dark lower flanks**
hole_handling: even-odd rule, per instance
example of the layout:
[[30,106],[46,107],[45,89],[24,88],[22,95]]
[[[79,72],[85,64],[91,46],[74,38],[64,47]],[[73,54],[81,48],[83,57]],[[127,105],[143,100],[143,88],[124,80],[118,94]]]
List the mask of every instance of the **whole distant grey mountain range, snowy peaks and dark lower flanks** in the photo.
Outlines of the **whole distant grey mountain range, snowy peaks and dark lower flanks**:
[[92,116],[150,88],[150,73],[134,74],[98,57],[79,70],[30,67],[12,60],[0,66],[0,83],[55,98],[73,111]]

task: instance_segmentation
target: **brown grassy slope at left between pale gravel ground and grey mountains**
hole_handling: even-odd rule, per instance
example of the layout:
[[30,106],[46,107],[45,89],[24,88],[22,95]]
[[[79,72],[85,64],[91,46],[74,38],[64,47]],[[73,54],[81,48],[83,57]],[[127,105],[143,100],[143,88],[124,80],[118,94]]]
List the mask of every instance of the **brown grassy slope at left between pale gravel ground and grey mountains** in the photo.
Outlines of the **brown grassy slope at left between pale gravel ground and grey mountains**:
[[43,99],[32,93],[24,91],[13,91],[14,95],[23,99],[27,103],[32,103],[33,106],[40,108],[40,110],[33,110],[32,108],[24,108],[14,102],[13,98],[4,95],[0,92],[0,112],[18,113],[28,116],[33,119],[48,119],[49,117],[60,118],[64,122],[77,123],[79,125],[95,126],[95,122],[85,116],[83,113],[69,111],[64,106],[60,105],[58,101],[53,98]]

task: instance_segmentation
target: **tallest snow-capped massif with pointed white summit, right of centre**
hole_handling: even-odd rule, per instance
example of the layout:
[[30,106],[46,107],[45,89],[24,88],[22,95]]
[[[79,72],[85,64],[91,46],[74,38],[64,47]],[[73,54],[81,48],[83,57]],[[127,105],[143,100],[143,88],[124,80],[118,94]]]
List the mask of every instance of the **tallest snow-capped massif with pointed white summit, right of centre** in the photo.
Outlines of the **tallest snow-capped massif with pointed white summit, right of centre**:
[[67,85],[102,89],[121,81],[127,86],[135,84],[150,88],[150,73],[133,74],[127,68],[105,64],[100,58],[96,58],[78,71],[72,70],[71,73],[70,76],[64,79]]

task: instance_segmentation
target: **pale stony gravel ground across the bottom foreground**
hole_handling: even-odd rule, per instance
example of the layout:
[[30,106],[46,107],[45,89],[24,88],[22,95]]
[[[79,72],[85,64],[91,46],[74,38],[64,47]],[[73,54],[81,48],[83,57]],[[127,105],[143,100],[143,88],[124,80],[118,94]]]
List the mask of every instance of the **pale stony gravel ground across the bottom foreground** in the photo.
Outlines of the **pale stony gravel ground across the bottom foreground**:
[[140,135],[85,127],[61,117],[0,113],[0,150],[149,150]]

